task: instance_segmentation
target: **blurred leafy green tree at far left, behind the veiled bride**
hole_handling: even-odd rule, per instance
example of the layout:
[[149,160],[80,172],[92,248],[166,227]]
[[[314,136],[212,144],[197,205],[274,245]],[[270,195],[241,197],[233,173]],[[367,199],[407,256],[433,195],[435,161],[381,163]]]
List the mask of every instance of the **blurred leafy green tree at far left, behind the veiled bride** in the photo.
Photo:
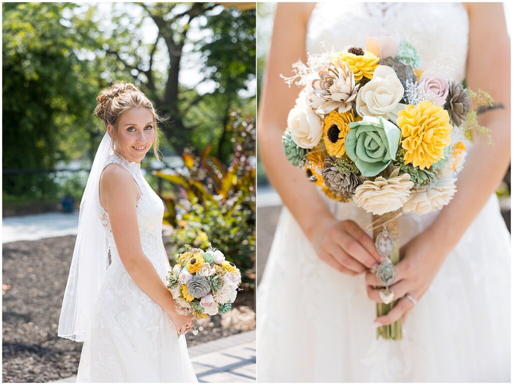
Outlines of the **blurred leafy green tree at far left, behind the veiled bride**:
[[[77,54],[71,23],[76,6],[3,4],[3,167],[52,168],[93,126],[94,68]],[[94,127],[94,126],[93,126]],[[56,186],[48,175],[6,178],[10,194],[38,196]],[[33,191],[33,188],[36,191]]]

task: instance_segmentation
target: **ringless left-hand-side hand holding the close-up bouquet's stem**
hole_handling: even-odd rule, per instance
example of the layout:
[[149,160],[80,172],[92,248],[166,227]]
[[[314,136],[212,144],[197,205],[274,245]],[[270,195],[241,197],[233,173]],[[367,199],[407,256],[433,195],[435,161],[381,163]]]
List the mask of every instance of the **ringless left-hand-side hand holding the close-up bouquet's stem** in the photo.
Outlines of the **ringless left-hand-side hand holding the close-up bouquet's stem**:
[[352,220],[323,220],[312,236],[312,244],[333,269],[356,275],[377,266],[380,255],[372,238]]

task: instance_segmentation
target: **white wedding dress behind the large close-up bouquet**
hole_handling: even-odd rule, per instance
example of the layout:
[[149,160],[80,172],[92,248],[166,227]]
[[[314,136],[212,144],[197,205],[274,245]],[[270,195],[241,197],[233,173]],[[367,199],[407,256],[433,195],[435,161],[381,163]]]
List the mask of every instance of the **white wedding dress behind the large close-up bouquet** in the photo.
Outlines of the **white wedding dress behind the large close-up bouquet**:
[[[365,47],[367,34],[397,30],[418,47],[423,68],[461,81],[468,28],[459,3],[318,4],[306,46],[310,53],[324,52],[322,42],[328,50]],[[339,219],[363,228],[371,221],[353,203],[326,201]],[[401,245],[436,215],[403,215]],[[376,340],[363,275],[321,262],[283,208],[258,287],[258,381],[509,382],[509,238],[493,195],[410,312],[404,339]]]

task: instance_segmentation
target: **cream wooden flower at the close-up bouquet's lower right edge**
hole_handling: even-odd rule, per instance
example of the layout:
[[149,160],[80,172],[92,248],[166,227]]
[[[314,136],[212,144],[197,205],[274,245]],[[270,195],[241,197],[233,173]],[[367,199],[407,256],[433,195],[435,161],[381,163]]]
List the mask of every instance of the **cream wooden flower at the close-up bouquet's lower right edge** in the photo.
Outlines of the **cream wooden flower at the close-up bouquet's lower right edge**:
[[455,183],[456,178],[443,178],[433,187],[414,189],[404,204],[403,211],[423,215],[440,210],[456,193]]

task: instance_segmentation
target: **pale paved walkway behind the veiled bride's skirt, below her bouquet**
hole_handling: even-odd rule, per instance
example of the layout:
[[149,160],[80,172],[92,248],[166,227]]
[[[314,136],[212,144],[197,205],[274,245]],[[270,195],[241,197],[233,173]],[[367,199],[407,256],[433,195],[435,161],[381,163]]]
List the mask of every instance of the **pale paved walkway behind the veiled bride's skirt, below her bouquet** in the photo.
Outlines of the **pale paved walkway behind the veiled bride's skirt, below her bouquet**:
[[[235,334],[189,348],[200,382],[256,382],[256,332]],[[76,382],[76,376],[52,382]]]

